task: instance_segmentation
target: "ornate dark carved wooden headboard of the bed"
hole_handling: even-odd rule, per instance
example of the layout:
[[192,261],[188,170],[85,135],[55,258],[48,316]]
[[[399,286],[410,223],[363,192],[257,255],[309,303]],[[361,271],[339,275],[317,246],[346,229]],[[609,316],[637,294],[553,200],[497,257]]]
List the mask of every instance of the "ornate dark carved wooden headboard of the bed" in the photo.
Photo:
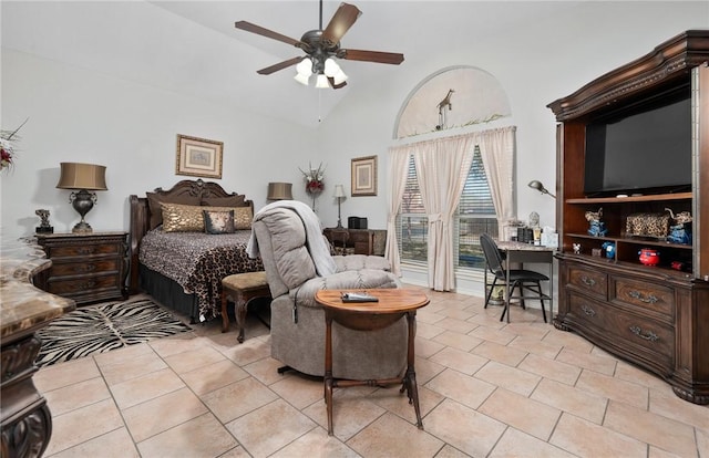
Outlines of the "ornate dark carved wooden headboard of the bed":
[[[164,190],[163,188],[155,188],[153,191],[160,196],[176,197],[176,196],[193,196],[198,198],[209,197],[230,197],[238,196],[237,192],[227,192],[224,188],[212,181],[203,181],[202,179],[185,179],[178,181],[172,188]],[[138,197],[131,195],[131,284],[130,292],[135,294],[138,291],[138,248],[141,240],[150,230],[151,222],[151,209],[147,204],[147,197]],[[251,214],[254,212],[254,202],[251,200],[245,200],[245,204],[251,207]]]

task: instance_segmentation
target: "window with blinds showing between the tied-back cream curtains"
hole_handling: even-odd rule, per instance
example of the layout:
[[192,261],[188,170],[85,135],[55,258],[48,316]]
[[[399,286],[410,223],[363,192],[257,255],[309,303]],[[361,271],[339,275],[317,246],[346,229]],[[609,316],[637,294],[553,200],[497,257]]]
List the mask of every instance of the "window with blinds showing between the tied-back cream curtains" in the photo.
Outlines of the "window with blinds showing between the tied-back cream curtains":
[[[397,236],[401,260],[407,263],[425,264],[429,225],[421,190],[417,181],[413,156],[409,157],[409,174],[403,192],[401,210],[397,218]],[[497,217],[492,201],[485,169],[475,146],[473,163],[463,194],[453,216],[453,246],[456,267],[462,269],[484,269],[485,258],[480,246],[480,235],[497,237]]]

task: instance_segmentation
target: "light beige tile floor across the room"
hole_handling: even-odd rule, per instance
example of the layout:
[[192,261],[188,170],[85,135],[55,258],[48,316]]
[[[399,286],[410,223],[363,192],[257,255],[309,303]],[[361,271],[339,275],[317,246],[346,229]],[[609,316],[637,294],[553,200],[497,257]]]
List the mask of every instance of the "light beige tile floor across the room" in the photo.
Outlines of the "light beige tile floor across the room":
[[[414,287],[409,287],[414,288]],[[425,290],[417,377],[424,430],[399,387],[335,392],[280,375],[268,330],[234,325],[42,368],[45,457],[709,457],[709,407],[586,340],[513,309]],[[709,348],[707,348],[709,351]]]

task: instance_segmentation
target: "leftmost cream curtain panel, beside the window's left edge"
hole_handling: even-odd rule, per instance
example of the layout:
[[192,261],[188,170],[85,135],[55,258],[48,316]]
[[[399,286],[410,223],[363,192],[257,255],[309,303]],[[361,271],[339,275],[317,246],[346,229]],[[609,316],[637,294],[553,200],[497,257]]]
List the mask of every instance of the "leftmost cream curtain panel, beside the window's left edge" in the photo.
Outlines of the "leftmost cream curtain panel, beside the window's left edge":
[[389,148],[389,215],[387,217],[387,244],[384,258],[391,263],[391,271],[401,277],[401,258],[399,257],[399,243],[397,241],[397,215],[401,207],[401,198],[407,187],[407,175],[409,171],[409,147],[393,146]]

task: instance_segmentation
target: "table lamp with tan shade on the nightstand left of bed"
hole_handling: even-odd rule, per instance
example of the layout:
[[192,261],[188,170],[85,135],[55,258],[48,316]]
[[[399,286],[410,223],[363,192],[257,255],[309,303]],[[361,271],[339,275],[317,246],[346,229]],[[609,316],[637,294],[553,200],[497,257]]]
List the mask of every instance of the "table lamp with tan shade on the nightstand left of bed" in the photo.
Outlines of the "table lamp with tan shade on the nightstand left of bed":
[[72,232],[91,233],[93,229],[84,220],[84,216],[96,202],[96,194],[90,190],[107,190],[106,168],[94,164],[60,163],[61,174],[56,187],[72,189],[76,192],[69,195],[69,202],[81,215],[81,221],[74,226]]

